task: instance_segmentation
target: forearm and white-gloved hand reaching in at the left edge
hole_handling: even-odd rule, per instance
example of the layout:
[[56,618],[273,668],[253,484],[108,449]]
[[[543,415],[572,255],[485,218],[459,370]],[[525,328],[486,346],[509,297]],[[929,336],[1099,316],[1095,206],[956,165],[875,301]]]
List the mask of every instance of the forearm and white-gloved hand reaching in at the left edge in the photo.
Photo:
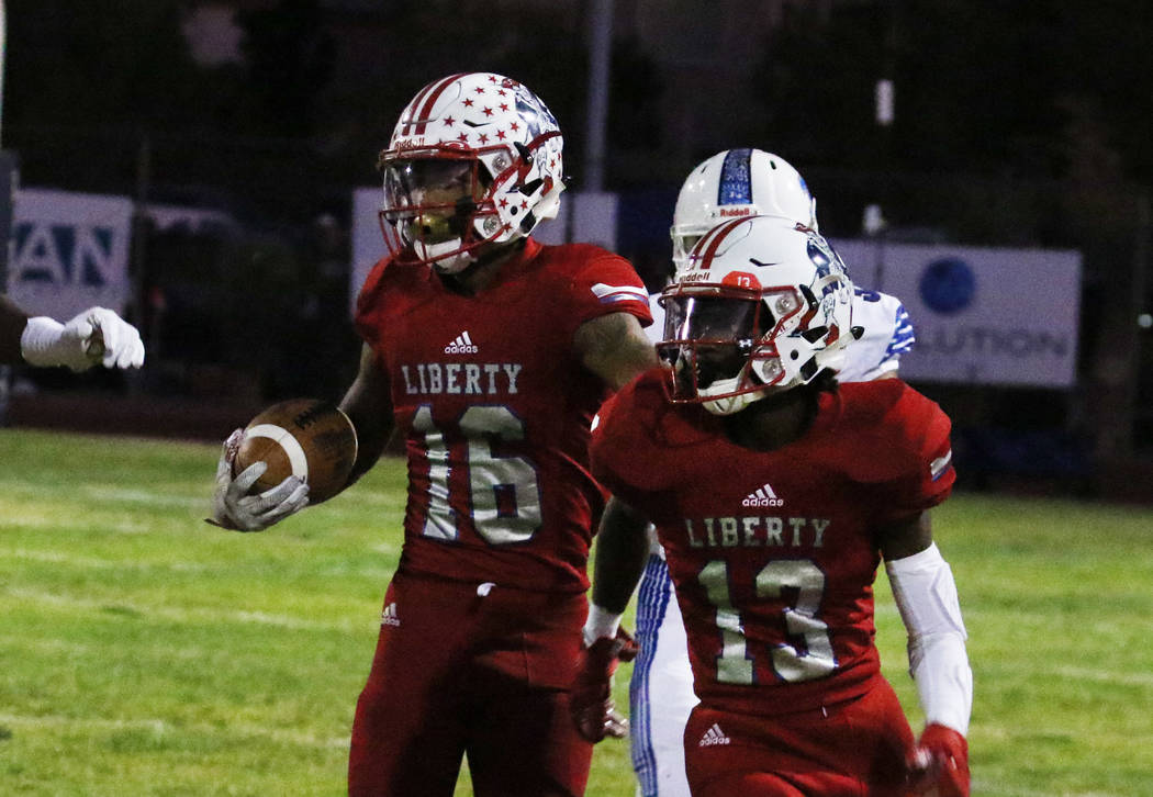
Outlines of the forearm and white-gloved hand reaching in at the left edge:
[[47,316],[30,316],[7,296],[0,296],[0,364],[74,371],[92,366],[140,368],[144,344],[135,326],[112,310],[91,307],[66,324]]

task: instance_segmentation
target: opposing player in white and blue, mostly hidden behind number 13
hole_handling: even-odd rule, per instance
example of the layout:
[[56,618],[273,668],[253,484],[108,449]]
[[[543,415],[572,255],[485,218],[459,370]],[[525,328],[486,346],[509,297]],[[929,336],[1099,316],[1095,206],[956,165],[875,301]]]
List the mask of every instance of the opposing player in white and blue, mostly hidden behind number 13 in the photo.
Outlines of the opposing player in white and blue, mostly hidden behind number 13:
[[[783,216],[813,230],[816,202],[804,178],[784,159],[756,149],[718,152],[685,180],[673,213],[673,264],[681,270],[688,253],[716,225],[746,216]],[[660,294],[657,294],[660,295]],[[654,323],[646,332],[660,339],[664,311],[649,301]],[[909,314],[895,296],[857,288],[853,323],[861,337],[846,348],[841,382],[866,382],[897,375],[898,360],[913,345]],[[651,534],[651,529],[650,529]],[[603,622],[594,607],[589,626]],[[598,634],[586,626],[586,639]],[[696,696],[688,666],[688,647],[664,561],[653,539],[653,551],[636,600],[636,641],[640,655],[630,684],[633,769],[642,797],[688,797],[685,776],[685,722]]]

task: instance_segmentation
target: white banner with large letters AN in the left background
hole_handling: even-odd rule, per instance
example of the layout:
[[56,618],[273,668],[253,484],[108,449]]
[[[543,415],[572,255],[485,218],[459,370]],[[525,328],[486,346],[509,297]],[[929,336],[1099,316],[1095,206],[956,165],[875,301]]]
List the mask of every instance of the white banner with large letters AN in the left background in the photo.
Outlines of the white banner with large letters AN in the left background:
[[131,298],[133,203],[122,196],[39,188],[15,191],[8,295],[33,315],[67,321]]

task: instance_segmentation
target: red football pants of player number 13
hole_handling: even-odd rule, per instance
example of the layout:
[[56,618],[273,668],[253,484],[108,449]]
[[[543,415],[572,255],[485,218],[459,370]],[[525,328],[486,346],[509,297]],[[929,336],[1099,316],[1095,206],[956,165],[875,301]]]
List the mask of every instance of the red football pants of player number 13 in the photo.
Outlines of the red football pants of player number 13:
[[693,709],[693,797],[904,797],[913,734],[887,681],[859,698],[776,716]]

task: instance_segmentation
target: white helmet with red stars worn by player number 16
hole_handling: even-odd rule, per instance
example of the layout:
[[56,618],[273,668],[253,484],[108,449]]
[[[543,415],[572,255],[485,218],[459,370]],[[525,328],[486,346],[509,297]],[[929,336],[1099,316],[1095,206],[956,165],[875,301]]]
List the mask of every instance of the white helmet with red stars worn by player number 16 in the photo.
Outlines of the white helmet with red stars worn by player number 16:
[[[412,247],[417,260],[457,273],[489,245],[527,236],[557,215],[563,146],[549,108],[510,77],[461,73],[429,83],[379,158],[390,251]],[[427,190],[430,180],[437,190]],[[449,186],[455,194],[439,190]]]

